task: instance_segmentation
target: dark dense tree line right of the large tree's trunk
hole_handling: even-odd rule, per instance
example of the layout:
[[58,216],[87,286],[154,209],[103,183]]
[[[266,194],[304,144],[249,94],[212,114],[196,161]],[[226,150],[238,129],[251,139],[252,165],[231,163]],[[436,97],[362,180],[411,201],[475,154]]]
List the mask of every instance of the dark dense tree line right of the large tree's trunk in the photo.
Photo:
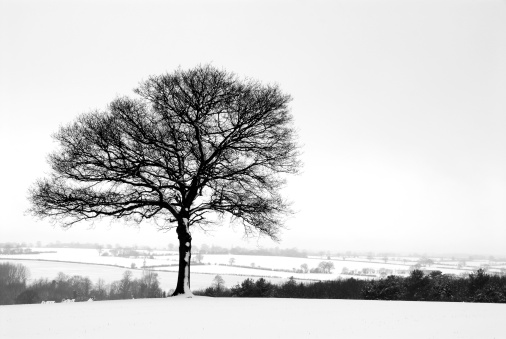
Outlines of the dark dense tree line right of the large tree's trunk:
[[290,278],[283,284],[272,284],[264,278],[246,279],[226,288],[224,282],[193,292],[211,297],[247,298],[315,298],[410,300],[447,302],[506,303],[506,276],[488,275],[484,270],[456,277],[434,271],[428,275],[414,270],[408,277],[390,275],[378,280],[354,278],[297,283]]

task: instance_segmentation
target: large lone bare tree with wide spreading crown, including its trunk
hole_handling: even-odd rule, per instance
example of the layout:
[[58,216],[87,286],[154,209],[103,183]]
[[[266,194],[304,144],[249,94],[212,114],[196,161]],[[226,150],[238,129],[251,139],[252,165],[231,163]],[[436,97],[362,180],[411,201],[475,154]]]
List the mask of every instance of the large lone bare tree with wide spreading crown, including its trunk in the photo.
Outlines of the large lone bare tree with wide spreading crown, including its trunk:
[[191,295],[190,230],[219,220],[208,213],[277,239],[290,212],[284,174],[299,168],[291,98],[212,66],[152,76],[135,93],[60,128],[30,211],[63,227],[103,217],[175,227],[174,295]]

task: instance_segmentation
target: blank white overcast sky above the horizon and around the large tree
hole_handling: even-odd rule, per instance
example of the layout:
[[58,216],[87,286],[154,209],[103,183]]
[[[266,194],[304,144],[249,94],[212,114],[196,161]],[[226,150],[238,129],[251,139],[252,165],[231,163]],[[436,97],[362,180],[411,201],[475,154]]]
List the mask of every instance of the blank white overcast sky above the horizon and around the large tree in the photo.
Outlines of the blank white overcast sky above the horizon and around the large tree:
[[212,63],[294,98],[305,167],[280,247],[506,254],[504,1],[0,0],[0,50],[0,242],[177,243],[53,228],[24,215],[27,190],[60,125]]

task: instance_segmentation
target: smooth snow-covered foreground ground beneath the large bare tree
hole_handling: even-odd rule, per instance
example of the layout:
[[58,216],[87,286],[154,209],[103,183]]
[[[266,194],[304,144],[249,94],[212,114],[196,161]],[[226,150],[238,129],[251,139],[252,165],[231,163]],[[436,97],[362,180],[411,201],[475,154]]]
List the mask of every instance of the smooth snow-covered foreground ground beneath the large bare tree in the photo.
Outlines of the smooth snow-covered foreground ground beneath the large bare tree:
[[505,338],[500,304],[194,297],[0,306],[0,338]]

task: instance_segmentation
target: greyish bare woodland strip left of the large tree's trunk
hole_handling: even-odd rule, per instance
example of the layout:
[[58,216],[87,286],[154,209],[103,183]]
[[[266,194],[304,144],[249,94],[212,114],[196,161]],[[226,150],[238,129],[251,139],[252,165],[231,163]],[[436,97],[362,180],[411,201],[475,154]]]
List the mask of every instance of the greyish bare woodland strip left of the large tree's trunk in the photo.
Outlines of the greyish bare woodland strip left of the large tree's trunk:
[[0,264],[0,305],[35,304],[42,301],[61,302],[117,300],[132,298],[160,298],[165,292],[160,289],[158,274],[144,270],[139,279],[131,271],[125,271],[121,280],[106,284],[103,279],[92,283],[88,277],[69,276],[59,273],[53,280],[38,279],[27,284],[28,269],[20,264]]

